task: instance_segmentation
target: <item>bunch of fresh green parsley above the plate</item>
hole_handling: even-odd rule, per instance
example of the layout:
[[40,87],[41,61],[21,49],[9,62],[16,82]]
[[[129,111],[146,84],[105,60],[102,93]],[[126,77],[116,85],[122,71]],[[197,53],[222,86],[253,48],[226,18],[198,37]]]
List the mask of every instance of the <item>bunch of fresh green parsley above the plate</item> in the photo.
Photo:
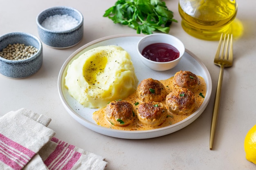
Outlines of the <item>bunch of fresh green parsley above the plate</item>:
[[103,16],[115,24],[136,29],[138,34],[152,34],[152,31],[168,33],[171,23],[177,22],[173,19],[173,12],[160,0],[117,0]]

